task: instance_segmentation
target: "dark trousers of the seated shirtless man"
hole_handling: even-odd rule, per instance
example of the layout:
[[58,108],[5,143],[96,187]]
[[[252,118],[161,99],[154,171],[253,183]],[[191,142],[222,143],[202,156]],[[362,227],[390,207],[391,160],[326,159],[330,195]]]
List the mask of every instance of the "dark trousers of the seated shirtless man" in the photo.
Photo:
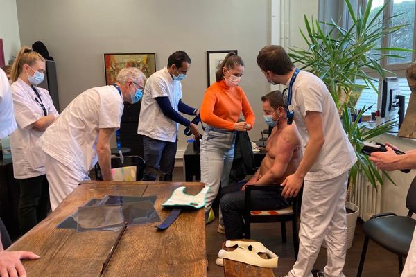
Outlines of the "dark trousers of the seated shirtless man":
[[[244,232],[245,192],[241,187],[247,181],[230,184],[221,191],[221,212],[223,213],[225,237],[227,240],[241,239]],[[252,206],[256,210],[279,210],[291,204],[279,191],[254,190],[251,193]]]

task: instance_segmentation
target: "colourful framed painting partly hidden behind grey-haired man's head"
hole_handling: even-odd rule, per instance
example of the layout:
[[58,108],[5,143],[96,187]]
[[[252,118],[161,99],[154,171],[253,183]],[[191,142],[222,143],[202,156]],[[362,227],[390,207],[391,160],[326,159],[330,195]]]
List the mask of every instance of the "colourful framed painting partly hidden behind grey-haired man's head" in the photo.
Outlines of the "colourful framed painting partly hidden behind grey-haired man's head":
[[119,71],[125,67],[137,67],[146,77],[156,71],[155,53],[104,54],[105,84],[114,84]]

